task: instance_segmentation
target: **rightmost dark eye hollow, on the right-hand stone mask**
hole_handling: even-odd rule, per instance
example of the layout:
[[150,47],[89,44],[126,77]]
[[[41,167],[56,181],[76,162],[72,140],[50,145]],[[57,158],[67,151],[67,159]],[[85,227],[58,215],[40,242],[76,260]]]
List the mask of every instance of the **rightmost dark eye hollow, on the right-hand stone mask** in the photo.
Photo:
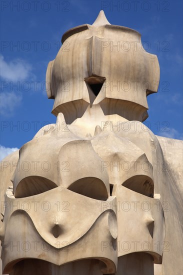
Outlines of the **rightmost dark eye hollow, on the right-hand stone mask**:
[[153,197],[154,183],[147,175],[134,175],[125,180],[122,185],[140,194]]

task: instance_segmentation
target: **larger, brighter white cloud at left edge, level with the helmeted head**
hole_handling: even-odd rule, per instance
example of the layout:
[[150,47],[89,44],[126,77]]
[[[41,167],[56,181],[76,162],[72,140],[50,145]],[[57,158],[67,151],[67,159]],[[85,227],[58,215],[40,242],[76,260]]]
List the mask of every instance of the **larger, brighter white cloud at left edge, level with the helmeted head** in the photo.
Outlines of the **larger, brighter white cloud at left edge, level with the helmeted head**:
[[31,65],[26,61],[16,58],[6,62],[0,55],[0,76],[7,81],[21,81],[30,76]]

